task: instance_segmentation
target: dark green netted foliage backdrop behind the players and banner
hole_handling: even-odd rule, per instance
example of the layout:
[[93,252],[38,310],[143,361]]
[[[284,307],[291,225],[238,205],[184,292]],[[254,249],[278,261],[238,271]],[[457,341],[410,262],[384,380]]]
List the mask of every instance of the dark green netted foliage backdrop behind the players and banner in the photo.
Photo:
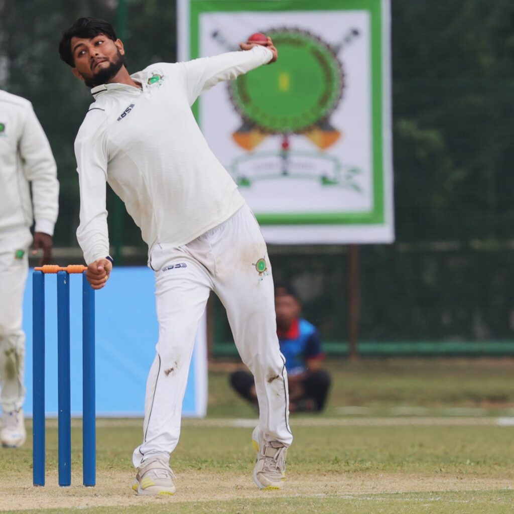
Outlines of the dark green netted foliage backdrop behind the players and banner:
[[[391,4],[396,242],[360,247],[360,338],[514,339],[514,3]],[[62,29],[84,15],[124,25],[116,0],[0,0],[0,87],[32,101],[52,145],[61,247],[77,246],[73,141],[91,98],[57,46]],[[174,61],[175,26],[173,0],[128,0],[130,70]],[[111,194],[109,212],[113,201]],[[126,215],[122,234],[123,245],[138,249],[130,262],[144,264],[139,229]],[[271,247],[270,255],[276,280],[297,287],[324,339],[344,341],[347,249]],[[218,302],[213,308],[221,314]],[[216,321],[215,336],[230,339],[225,322]]]

